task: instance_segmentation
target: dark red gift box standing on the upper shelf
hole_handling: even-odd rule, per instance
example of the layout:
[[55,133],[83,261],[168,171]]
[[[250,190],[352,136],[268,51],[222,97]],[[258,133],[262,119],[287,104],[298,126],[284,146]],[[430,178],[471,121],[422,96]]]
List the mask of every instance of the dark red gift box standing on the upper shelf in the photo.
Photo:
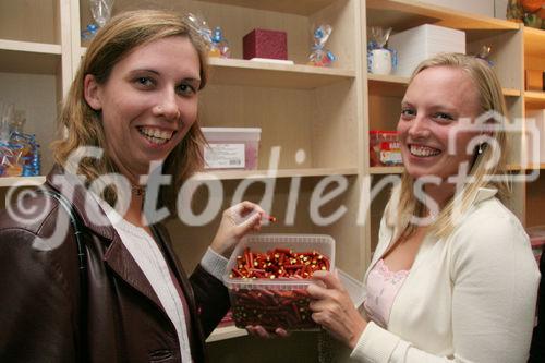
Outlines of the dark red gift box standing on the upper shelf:
[[253,29],[242,39],[243,58],[288,59],[288,35],[280,31]]

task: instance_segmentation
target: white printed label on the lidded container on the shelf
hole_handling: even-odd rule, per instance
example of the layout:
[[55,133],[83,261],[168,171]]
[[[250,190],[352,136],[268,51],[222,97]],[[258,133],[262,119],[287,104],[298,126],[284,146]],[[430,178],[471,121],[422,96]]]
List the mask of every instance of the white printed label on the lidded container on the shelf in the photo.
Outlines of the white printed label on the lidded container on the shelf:
[[205,169],[243,169],[244,144],[210,144],[204,148]]

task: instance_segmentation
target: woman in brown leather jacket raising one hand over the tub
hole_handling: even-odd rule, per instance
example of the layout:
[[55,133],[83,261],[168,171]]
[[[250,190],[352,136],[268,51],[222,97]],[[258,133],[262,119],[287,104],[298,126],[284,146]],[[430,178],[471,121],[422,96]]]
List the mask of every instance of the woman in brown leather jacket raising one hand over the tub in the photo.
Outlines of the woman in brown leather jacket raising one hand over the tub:
[[[66,137],[45,194],[0,214],[0,361],[206,361],[205,338],[229,308],[225,257],[263,213],[228,209],[190,278],[154,220],[175,213],[203,164],[206,80],[204,47],[181,15],[128,12],[98,32],[61,112]],[[141,178],[150,171],[172,182],[153,187]]]

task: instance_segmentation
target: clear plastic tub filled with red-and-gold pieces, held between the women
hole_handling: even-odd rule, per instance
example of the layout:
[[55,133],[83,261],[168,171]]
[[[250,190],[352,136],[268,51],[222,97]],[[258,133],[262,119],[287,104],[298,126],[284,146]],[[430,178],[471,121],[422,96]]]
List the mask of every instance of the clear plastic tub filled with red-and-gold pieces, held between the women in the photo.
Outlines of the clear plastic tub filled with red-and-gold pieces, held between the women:
[[275,249],[290,249],[293,252],[312,252],[329,258],[329,269],[335,268],[335,240],[325,234],[251,234],[242,239],[233,251],[223,275],[229,290],[234,324],[239,328],[261,325],[274,330],[315,330],[318,325],[311,318],[310,297],[306,288],[311,279],[247,279],[231,277],[237,256],[244,249],[265,253]]

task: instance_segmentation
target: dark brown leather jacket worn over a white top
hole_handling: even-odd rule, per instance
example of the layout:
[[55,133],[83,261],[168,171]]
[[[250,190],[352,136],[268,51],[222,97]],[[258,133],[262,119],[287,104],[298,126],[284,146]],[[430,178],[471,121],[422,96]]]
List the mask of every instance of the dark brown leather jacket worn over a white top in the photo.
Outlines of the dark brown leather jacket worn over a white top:
[[[59,190],[61,177],[59,191],[86,229],[86,299],[72,229],[35,240],[66,221],[57,201],[26,197],[24,207],[35,209],[19,221],[0,211],[0,362],[181,362],[175,328],[146,277],[97,203],[61,173],[53,168],[46,185]],[[189,304],[193,361],[205,362],[205,337],[229,308],[227,290],[201,266],[187,279],[166,229],[153,230]]]

